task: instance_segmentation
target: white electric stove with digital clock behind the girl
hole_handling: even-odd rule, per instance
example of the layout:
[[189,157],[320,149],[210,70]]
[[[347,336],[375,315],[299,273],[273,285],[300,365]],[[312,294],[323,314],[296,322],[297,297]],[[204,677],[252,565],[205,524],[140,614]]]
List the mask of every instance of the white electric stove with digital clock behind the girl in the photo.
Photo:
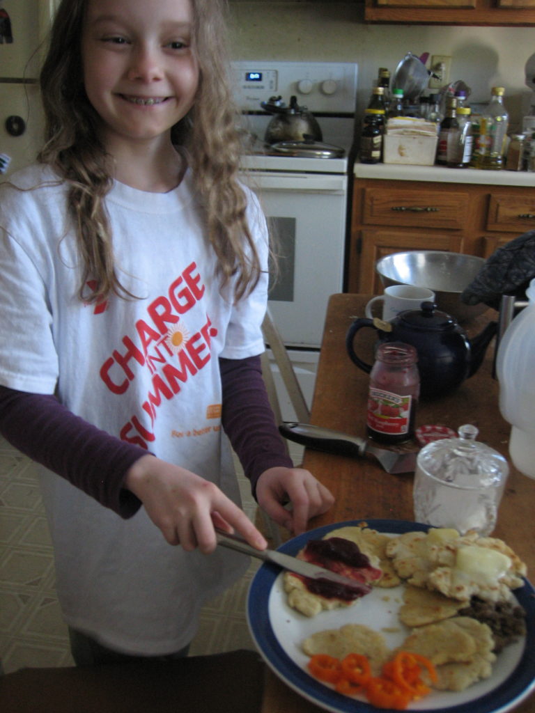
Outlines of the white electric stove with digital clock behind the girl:
[[[357,65],[337,62],[233,63],[248,153],[250,181],[277,238],[279,278],[270,311],[289,347],[320,348],[327,302],[342,292],[347,239],[348,182],[355,138]],[[344,149],[340,158],[277,154],[265,144],[272,115],[262,102],[296,96],[322,130],[322,143]]]

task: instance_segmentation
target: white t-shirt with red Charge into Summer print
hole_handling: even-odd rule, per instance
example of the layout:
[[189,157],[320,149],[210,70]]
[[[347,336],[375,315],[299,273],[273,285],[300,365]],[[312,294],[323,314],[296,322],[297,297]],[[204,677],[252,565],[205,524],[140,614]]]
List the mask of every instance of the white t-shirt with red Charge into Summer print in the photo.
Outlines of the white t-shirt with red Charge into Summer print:
[[[141,299],[83,304],[65,185],[41,166],[11,180],[40,187],[0,190],[0,383],[56,393],[74,414],[239,502],[220,428],[218,357],[264,349],[267,230],[258,202],[251,194],[248,217],[263,276],[234,305],[233,284],[222,296],[215,277],[190,173],[165,194],[114,183],[106,207],[118,275]],[[203,602],[247,567],[223,548],[202,555],[172,547],[144,508],[123,520],[50,471],[41,486],[66,621],[109,647],[179,650],[195,634]]]

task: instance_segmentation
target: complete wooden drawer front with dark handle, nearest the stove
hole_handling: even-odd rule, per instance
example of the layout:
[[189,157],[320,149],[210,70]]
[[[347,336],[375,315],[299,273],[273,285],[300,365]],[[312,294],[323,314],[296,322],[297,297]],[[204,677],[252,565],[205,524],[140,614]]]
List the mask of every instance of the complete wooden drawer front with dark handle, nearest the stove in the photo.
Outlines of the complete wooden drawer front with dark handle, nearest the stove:
[[442,227],[462,230],[467,218],[467,193],[432,190],[367,188],[362,222],[370,225]]

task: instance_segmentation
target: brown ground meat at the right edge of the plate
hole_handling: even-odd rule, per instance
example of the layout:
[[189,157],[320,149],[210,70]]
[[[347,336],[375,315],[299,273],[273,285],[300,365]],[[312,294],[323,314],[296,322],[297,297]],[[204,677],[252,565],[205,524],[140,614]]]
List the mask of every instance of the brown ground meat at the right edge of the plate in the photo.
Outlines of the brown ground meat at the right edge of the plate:
[[459,610],[459,615],[489,625],[494,636],[494,653],[526,634],[526,612],[516,602],[489,602],[472,597],[469,607]]

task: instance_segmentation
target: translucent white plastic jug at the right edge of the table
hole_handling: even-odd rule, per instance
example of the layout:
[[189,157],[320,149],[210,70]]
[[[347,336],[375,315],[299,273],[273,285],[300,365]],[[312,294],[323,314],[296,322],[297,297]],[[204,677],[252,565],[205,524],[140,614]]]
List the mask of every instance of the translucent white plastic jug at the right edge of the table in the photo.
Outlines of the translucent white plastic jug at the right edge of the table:
[[501,415],[511,424],[509,455],[521,473],[535,478],[535,278],[527,307],[514,317],[496,357]]

